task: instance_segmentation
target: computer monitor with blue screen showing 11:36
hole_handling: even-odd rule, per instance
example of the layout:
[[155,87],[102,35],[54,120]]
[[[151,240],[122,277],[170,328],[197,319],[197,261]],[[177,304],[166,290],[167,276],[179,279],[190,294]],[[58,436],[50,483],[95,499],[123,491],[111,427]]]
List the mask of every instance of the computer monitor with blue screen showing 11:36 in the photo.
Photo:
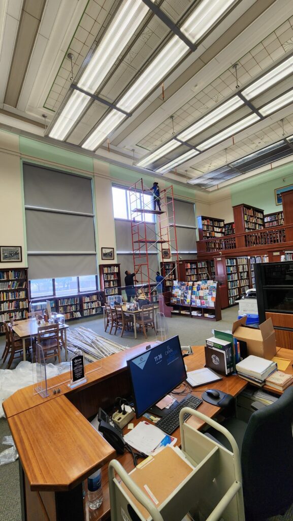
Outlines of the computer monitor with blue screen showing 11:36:
[[127,365],[137,418],[187,377],[178,336],[130,358]]

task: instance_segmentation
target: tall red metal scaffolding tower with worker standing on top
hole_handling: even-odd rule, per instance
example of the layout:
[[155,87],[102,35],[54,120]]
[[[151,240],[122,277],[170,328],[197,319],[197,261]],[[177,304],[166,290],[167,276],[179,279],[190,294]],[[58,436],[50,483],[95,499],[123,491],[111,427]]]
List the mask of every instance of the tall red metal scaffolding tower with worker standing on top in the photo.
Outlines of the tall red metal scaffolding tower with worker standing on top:
[[[129,188],[129,202],[134,271],[139,268],[136,283],[142,284],[151,295],[154,287],[150,284],[156,283],[156,270],[150,267],[150,253],[160,252],[164,278],[176,279],[179,274],[173,186],[160,190],[161,211],[154,210],[152,192],[144,185],[143,179]],[[164,265],[170,263],[171,270],[170,266],[165,269]]]

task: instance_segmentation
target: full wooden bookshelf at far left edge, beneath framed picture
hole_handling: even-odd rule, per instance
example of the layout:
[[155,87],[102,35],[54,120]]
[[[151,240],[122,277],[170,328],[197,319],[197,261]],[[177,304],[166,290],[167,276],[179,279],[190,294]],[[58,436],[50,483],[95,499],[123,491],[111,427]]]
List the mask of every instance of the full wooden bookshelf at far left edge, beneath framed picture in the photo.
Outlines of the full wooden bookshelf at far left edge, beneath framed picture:
[[[15,320],[26,318],[28,308],[28,269],[1,269],[0,325],[11,317]],[[4,332],[3,326],[0,331]]]

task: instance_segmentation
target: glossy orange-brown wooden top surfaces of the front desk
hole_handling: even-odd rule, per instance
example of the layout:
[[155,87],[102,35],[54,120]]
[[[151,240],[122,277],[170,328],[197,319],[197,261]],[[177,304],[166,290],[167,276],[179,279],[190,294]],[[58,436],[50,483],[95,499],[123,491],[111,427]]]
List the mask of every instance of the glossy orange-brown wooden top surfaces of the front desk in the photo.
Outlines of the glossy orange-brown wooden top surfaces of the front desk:
[[[69,490],[114,457],[112,447],[71,403],[70,395],[74,398],[74,395],[81,393],[82,396],[91,386],[103,381],[107,386],[106,380],[124,373],[126,360],[144,350],[149,344],[150,342],[144,342],[130,350],[87,365],[87,382],[78,388],[68,387],[65,380],[70,378],[70,374],[66,373],[48,380],[50,386],[60,387],[60,394],[54,395],[51,389],[49,397],[43,399],[40,395],[33,395],[33,386],[28,386],[5,400],[5,415],[32,490]],[[195,346],[193,351],[193,355],[184,359],[188,370],[201,368],[205,361],[203,346]],[[284,358],[291,359],[292,354],[290,350],[278,351],[278,355]],[[95,367],[99,369],[92,371]],[[291,364],[288,370],[293,373]],[[198,395],[208,388],[215,387],[236,396],[246,386],[246,380],[238,376],[229,376],[198,387],[193,392]],[[203,402],[199,410],[213,417],[219,413],[220,407]],[[194,417],[187,421],[196,428],[203,425],[202,421]],[[174,436],[180,444],[179,429],[175,431]],[[120,456],[119,461],[126,470],[133,468],[129,454]],[[103,472],[103,480],[107,481],[106,470]],[[107,509],[105,499],[104,502]],[[100,512],[104,512],[104,506]]]

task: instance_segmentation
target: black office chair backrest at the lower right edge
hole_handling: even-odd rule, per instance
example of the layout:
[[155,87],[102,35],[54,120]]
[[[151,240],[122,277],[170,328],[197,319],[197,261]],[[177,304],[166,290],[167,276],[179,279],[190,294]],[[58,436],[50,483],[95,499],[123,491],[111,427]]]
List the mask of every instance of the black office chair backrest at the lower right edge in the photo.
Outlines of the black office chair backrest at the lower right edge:
[[246,521],[285,512],[293,502],[293,387],[250,417],[241,453]]

